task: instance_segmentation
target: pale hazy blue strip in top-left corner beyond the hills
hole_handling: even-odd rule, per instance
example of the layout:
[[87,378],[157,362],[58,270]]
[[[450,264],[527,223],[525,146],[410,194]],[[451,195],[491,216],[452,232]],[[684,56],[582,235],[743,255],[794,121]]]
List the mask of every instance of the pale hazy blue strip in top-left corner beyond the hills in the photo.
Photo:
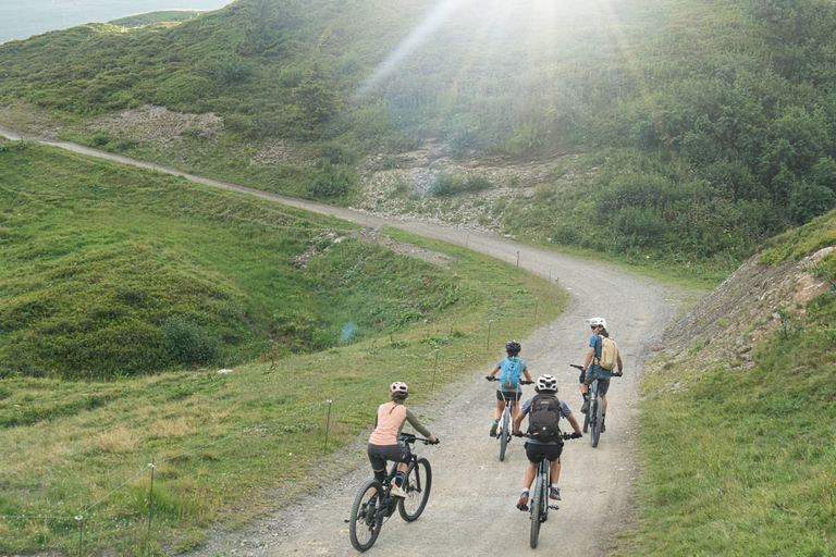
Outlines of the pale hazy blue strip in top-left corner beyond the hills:
[[233,0],[0,0],[0,42],[160,10],[218,10]]

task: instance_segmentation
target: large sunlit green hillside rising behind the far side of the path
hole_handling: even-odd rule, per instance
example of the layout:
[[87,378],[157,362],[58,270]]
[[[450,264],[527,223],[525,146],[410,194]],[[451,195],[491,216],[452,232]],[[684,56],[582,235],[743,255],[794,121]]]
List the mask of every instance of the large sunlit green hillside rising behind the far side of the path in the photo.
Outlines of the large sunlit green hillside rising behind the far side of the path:
[[[359,156],[426,139],[454,156],[587,152],[593,186],[542,184],[533,207],[502,215],[511,232],[728,270],[836,202],[834,10],[825,0],[237,0],[174,26],[87,25],[2,45],[0,101],[41,107],[69,137],[150,159],[165,149],[69,129],[143,103],[213,111],[226,134],[218,152],[315,143],[306,191],[342,202]],[[234,180],[196,158],[179,163]],[[290,187],[267,177],[282,163],[265,164],[239,180]]]

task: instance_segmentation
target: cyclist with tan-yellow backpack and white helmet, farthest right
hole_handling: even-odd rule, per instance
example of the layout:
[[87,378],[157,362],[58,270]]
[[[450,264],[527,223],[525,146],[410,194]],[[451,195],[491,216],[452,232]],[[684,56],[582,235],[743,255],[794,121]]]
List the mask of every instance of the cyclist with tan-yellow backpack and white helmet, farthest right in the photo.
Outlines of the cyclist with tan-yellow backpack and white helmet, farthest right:
[[[622,376],[624,374],[624,363],[622,355],[618,354],[618,345],[610,338],[606,331],[606,320],[604,318],[588,319],[587,322],[592,329],[592,336],[589,337],[589,351],[583,360],[583,369],[580,371],[580,393],[583,395],[583,406],[580,411],[589,411],[589,385],[598,380],[598,392],[602,400],[601,433],[606,431],[604,420],[606,419],[606,392],[610,389],[610,377],[613,375]],[[618,373],[613,373],[616,364]]]

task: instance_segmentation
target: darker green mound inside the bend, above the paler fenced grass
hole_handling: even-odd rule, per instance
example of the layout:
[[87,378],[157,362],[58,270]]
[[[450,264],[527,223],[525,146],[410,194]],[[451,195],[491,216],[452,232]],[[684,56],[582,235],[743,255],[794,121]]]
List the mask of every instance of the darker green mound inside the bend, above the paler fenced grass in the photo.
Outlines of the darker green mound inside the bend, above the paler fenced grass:
[[345,223],[172,176],[21,143],[0,176],[2,377],[229,367],[485,296]]

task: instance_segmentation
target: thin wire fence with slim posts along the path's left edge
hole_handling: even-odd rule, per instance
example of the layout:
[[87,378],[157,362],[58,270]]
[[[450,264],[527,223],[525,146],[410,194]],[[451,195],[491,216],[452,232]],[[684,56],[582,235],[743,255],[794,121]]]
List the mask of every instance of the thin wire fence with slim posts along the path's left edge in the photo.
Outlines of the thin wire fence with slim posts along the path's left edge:
[[[517,258],[519,256],[517,256]],[[519,264],[518,261],[517,261],[517,264]],[[534,297],[534,308],[533,308],[533,315],[532,315],[533,321],[537,321],[537,314],[538,314],[538,310],[540,308],[540,299],[543,297],[544,294],[546,294],[549,290],[553,290],[553,295],[554,295],[555,301],[557,299],[557,294],[558,294],[558,289],[560,289],[558,281],[557,281],[556,277],[555,278],[551,277],[551,270],[550,270],[550,280],[552,280],[554,282],[554,285],[553,286],[548,286],[546,288],[544,288],[540,294],[538,294]],[[445,348],[445,347],[451,346],[451,345],[454,345],[454,344],[457,344],[457,343],[464,343],[466,341],[470,341],[476,335],[478,335],[479,333],[482,333],[482,332],[484,332],[485,335],[487,335],[487,342],[485,342],[484,349],[485,349],[485,351],[490,350],[492,325],[495,322],[497,322],[497,321],[500,321],[500,320],[490,320],[487,323],[483,323],[482,325],[480,325],[480,326],[478,326],[476,329],[472,329],[468,333],[462,334],[462,335],[456,336],[456,337],[452,337],[452,336],[451,337],[446,337],[446,338],[448,338],[446,342],[444,342],[443,344],[439,345],[435,348],[430,349],[423,356],[416,357],[411,361],[408,361],[408,362],[406,362],[406,363],[404,363],[402,366],[393,368],[393,369],[391,369],[391,370],[389,370],[389,371],[386,371],[384,373],[381,373],[380,375],[377,375],[377,376],[374,376],[374,377],[372,377],[372,379],[370,379],[368,381],[365,381],[365,382],[360,383],[359,385],[356,385],[356,386],[354,386],[352,388],[348,388],[348,389],[343,391],[343,392],[341,392],[341,393],[339,393],[336,395],[333,395],[333,396],[331,396],[331,398],[327,398],[327,399],[323,399],[323,400],[321,400],[319,403],[308,405],[305,408],[300,408],[300,409],[297,409],[297,410],[284,413],[284,414],[278,417],[278,418],[273,418],[271,420],[268,420],[268,421],[265,421],[262,423],[259,423],[258,425],[254,425],[251,428],[247,428],[245,430],[242,430],[242,431],[238,431],[236,433],[232,433],[232,434],[226,435],[224,437],[221,437],[221,438],[218,438],[216,441],[212,441],[211,443],[206,443],[204,445],[186,449],[186,450],[184,450],[182,453],[179,453],[176,455],[173,455],[173,456],[160,459],[160,460],[156,460],[156,461],[149,462],[142,470],[137,471],[135,474],[133,474],[128,479],[124,480],[120,485],[118,485],[116,487],[111,490],[107,495],[102,496],[101,498],[99,498],[98,500],[96,500],[95,503],[89,505],[88,507],[84,508],[84,510],[82,510],[78,515],[74,515],[74,516],[66,516],[66,515],[0,515],[0,520],[45,520],[45,521],[52,520],[52,521],[66,521],[66,522],[71,522],[72,521],[72,522],[77,522],[77,524],[78,524],[78,555],[83,556],[84,555],[85,518],[87,518],[87,516],[90,515],[91,511],[94,509],[96,509],[98,506],[100,506],[103,503],[106,503],[107,500],[109,500],[114,494],[119,493],[121,490],[125,488],[126,486],[128,486],[130,484],[135,482],[137,479],[143,476],[143,474],[145,474],[146,472],[150,471],[151,476],[150,476],[150,486],[149,486],[149,493],[148,493],[149,510],[148,510],[148,517],[147,517],[147,520],[148,520],[148,522],[147,522],[147,524],[148,524],[147,532],[148,532],[148,535],[150,536],[150,534],[151,534],[151,523],[152,523],[152,520],[153,520],[153,471],[155,471],[155,469],[159,465],[162,465],[164,462],[169,462],[169,461],[172,461],[172,460],[185,457],[185,456],[187,456],[187,455],[189,455],[192,453],[196,453],[196,451],[199,451],[199,450],[207,449],[207,448],[209,448],[209,447],[211,447],[213,445],[218,445],[220,443],[228,442],[230,440],[233,440],[235,437],[239,437],[239,436],[245,435],[247,433],[253,433],[253,432],[261,431],[261,430],[263,430],[265,428],[267,428],[270,424],[273,424],[273,423],[276,423],[276,422],[281,422],[283,420],[287,420],[288,418],[292,418],[292,417],[295,417],[295,416],[302,414],[304,417],[305,412],[310,413],[310,412],[315,411],[318,408],[323,408],[325,405],[328,405],[328,416],[325,418],[323,453],[327,454],[328,453],[328,436],[329,436],[332,419],[335,418],[335,416],[332,416],[332,411],[331,411],[334,401],[336,401],[337,399],[346,398],[346,397],[348,397],[352,394],[358,393],[358,392],[362,391],[364,388],[369,387],[370,385],[377,384],[380,381],[382,381],[382,380],[384,380],[386,377],[390,377],[391,375],[393,375],[395,373],[403,372],[407,368],[417,366],[418,363],[420,363],[422,361],[426,361],[428,359],[432,359],[433,362],[434,362],[433,363],[433,370],[432,370],[432,376],[431,376],[431,380],[430,380],[431,381],[431,383],[430,383],[430,392],[432,393],[434,391],[435,376],[437,376],[437,373],[439,371],[439,355],[440,355],[441,350],[443,348]],[[494,331],[493,333],[495,334],[496,332]],[[263,355],[262,355],[261,360],[262,360],[262,363],[265,363]],[[273,362],[273,364],[274,364],[274,362]],[[89,534],[89,531],[87,531],[87,533]],[[147,540],[146,540],[146,542],[147,542]]]

